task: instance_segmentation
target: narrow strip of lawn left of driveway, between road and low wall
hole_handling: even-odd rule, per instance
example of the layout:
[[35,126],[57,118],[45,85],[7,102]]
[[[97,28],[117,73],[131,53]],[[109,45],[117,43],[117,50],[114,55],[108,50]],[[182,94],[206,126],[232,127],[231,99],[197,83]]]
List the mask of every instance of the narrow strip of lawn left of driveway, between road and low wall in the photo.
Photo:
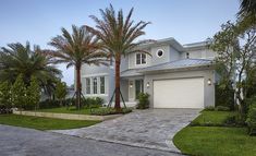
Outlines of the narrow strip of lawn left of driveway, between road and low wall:
[[31,128],[37,130],[64,130],[89,127],[99,121],[63,120],[20,115],[0,115],[0,124]]

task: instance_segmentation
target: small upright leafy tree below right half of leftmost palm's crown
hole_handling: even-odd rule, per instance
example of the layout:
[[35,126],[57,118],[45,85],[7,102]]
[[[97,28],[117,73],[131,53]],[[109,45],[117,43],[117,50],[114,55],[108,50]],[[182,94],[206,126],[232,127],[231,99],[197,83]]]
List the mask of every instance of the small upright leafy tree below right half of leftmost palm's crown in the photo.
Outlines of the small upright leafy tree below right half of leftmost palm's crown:
[[40,100],[40,86],[35,76],[32,76],[31,84],[26,91],[26,106],[27,108],[35,108]]

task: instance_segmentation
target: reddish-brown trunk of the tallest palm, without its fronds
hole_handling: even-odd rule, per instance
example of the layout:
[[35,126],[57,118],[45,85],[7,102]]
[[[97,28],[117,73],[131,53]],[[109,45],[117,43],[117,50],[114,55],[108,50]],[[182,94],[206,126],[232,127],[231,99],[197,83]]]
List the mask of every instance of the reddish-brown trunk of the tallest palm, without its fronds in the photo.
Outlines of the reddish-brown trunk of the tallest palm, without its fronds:
[[120,106],[120,57],[115,58],[115,100],[114,100],[114,109],[117,111],[121,110]]

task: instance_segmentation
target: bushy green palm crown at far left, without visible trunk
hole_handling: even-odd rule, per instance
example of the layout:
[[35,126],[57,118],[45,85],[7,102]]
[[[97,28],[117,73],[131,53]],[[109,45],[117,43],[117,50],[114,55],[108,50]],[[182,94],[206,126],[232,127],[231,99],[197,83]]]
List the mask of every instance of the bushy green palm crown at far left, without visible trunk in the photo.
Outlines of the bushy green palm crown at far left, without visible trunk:
[[44,55],[39,46],[31,49],[29,43],[9,44],[0,49],[0,81],[14,83],[16,77],[24,75],[24,82],[29,84],[32,75],[40,82],[40,86],[49,92],[54,86],[54,81],[61,77],[61,71],[51,65],[49,57]]

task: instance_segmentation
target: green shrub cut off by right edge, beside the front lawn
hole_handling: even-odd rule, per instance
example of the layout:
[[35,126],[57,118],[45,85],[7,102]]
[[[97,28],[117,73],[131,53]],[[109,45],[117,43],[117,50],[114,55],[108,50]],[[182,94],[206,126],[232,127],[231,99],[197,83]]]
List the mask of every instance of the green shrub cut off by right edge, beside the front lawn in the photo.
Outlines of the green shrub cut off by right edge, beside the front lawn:
[[256,101],[249,106],[246,123],[249,135],[256,135]]

